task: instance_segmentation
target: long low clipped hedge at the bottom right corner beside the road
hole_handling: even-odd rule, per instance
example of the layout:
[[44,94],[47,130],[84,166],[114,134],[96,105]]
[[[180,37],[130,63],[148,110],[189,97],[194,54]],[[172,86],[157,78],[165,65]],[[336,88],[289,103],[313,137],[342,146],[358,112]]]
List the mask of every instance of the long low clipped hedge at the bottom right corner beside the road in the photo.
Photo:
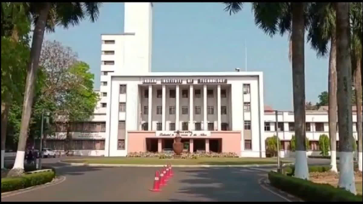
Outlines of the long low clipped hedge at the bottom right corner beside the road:
[[271,185],[288,192],[304,201],[360,201],[362,195],[354,195],[345,189],[335,188],[329,184],[313,183],[309,180],[299,179],[276,172],[268,174]]

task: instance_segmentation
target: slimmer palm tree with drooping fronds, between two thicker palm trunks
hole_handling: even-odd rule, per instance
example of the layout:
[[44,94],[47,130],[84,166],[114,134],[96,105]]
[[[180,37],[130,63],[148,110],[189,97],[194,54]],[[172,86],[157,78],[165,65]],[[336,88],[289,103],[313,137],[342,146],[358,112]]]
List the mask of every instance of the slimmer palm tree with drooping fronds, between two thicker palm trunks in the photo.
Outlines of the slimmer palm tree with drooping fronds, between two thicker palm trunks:
[[330,167],[337,169],[337,41],[335,36],[335,9],[333,3],[311,3],[309,9],[309,33],[307,40],[317,50],[317,56],[326,56],[330,41],[328,94],[329,94],[329,138]]

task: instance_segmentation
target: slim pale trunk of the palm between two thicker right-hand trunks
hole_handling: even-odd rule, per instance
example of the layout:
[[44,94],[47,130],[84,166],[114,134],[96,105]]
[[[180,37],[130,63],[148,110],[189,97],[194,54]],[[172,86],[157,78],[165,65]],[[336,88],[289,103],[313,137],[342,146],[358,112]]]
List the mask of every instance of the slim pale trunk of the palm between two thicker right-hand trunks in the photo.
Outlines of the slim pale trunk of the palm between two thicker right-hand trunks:
[[333,32],[330,39],[329,74],[329,138],[330,138],[330,167],[337,172],[337,39]]

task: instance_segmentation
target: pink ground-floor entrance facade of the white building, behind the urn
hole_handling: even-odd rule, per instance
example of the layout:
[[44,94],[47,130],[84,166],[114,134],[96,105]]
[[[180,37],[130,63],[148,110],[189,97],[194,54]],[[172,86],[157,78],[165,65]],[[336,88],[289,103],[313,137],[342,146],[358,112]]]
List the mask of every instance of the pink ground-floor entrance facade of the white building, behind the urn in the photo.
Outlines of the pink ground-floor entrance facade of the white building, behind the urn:
[[[155,131],[127,131],[127,152],[172,150],[173,137],[156,136]],[[241,155],[241,131],[211,131],[210,136],[182,137],[184,151],[234,152]]]

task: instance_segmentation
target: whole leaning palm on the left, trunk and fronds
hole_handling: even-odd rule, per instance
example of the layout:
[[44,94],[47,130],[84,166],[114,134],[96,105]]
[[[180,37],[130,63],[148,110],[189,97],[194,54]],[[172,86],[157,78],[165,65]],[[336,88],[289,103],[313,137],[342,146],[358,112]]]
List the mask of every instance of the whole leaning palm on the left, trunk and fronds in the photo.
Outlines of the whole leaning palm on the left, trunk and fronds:
[[94,22],[99,15],[98,8],[102,3],[70,2],[70,3],[31,3],[29,13],[35,24],[33,41],[30,50],[30,59],[26,77],[23,112],[21,115],[20,136],[15,163],[10,175],[19,175],[24,171],[24,154],[26,136],[29,127],[30,114],[34,98],[34,82],[39,66],[39,57],[44,38],[46,25],[48,31],[54,31],[55,25],[62,25],[65,28],[78,25],[85,16],[89,16]]

